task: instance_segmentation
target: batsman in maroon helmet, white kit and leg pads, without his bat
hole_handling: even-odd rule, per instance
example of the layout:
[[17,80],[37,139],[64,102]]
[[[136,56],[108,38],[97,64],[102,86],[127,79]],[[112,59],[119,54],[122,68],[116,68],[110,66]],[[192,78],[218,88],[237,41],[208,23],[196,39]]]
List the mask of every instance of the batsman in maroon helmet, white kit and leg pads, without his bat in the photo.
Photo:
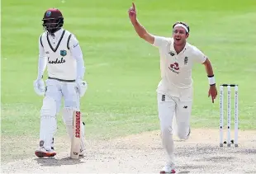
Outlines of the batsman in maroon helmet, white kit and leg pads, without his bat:
[[[64,98],[63,120],[70,139],[73,136],[73,111],[80,110],[80,97],[87,90],[83,81],[85,66],[83,53],[75,35],[64,30],[64,17],[56,8],[48,9],[43,18],[45,32],[39,38],[38,75],[34,81],[35,92],[44,96],[40,110],[40,143],[35,154],[39,158],[54,157],[54,135],[57,130],[56,115]],[[48,79],[43,74],[47,67]],[[45,85],[46,84],[46,85]],[[81,123],[84,138],[84,123]],[[85,151],[81,139],[80,154]]]

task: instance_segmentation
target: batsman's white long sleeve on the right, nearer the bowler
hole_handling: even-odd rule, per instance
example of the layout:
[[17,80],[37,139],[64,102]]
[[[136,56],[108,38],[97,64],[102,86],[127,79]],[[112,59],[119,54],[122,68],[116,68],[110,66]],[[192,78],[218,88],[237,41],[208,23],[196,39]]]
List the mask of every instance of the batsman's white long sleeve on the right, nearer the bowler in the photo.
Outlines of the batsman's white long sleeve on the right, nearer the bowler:
[[76,59],[77,62],[77,79],[82,79],[85,73],[85,65],[83,61],[83,52],[79,45],[79,42],[75,35],[72,35],[69,41],[70,53],[73,56],[73,59]]

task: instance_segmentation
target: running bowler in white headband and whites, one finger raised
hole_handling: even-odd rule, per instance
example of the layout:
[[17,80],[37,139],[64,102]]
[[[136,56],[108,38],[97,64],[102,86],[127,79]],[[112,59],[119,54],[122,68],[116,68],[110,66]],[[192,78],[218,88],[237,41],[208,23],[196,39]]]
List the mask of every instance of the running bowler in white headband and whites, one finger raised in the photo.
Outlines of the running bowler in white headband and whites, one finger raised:
[[157,101],[161,139],[167,153],[168,162],[160,173],[175,173],[173,134],[179,139],[188,139],[192,112],[192,66],[205,65],[210,89],[208,96],[212,102],[217,90],[211,62],[196,46],[187,43],[189,26],[183,22],[173,25],[173,37],[149,34],[136,17],[135,4],[130,7],[129,17],[140,38],[159,48],[161,81],[157,88]]

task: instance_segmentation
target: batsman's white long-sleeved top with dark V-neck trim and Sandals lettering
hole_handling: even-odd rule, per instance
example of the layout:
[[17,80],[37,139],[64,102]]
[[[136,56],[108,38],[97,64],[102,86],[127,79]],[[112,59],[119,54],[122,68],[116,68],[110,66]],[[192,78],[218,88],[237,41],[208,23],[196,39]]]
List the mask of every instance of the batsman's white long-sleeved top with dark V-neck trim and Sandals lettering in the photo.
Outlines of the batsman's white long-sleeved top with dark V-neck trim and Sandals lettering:
[[83,54],[76,37],[64,29],[50,35],[44,32],[39,39],[38,78],[47,64],[48,77],[61,80],[83,79]]

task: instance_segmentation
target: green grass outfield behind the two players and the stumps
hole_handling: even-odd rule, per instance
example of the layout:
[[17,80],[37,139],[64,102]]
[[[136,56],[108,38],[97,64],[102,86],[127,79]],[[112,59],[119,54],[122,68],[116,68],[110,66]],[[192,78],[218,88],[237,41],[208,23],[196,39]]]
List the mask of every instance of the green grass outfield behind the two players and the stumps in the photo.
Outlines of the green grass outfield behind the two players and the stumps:
[[[8,0],[2,2],[3,137],[37,138],[42,97],[36,96],[38,38],[49,7],[64,14],[64,28],[83,49],[88,92],[82,111],[88,138],[104,139],[159,129],[155,88],[159,50],[135,34],[127,16],[132,1]],[[188,41],[209,56],[216,81],[239,84],[239,128],[256,127],[256,2],[137,0],[138,17],[154,35],[170,36],[175,21],[191,27]],[[205,69],[193,71],[192,127],[218,128],[219,102],[207,98]],[[59,134],[65,134],[59,115]],[[7,146],[2,142],[7,154]],[[11,143],[10,143],[11,144]],[[10,145],[9,144],[9,145]],[[11,144],[12,145],[12,144]],[[18,147],[18,146],[17,146]]]

